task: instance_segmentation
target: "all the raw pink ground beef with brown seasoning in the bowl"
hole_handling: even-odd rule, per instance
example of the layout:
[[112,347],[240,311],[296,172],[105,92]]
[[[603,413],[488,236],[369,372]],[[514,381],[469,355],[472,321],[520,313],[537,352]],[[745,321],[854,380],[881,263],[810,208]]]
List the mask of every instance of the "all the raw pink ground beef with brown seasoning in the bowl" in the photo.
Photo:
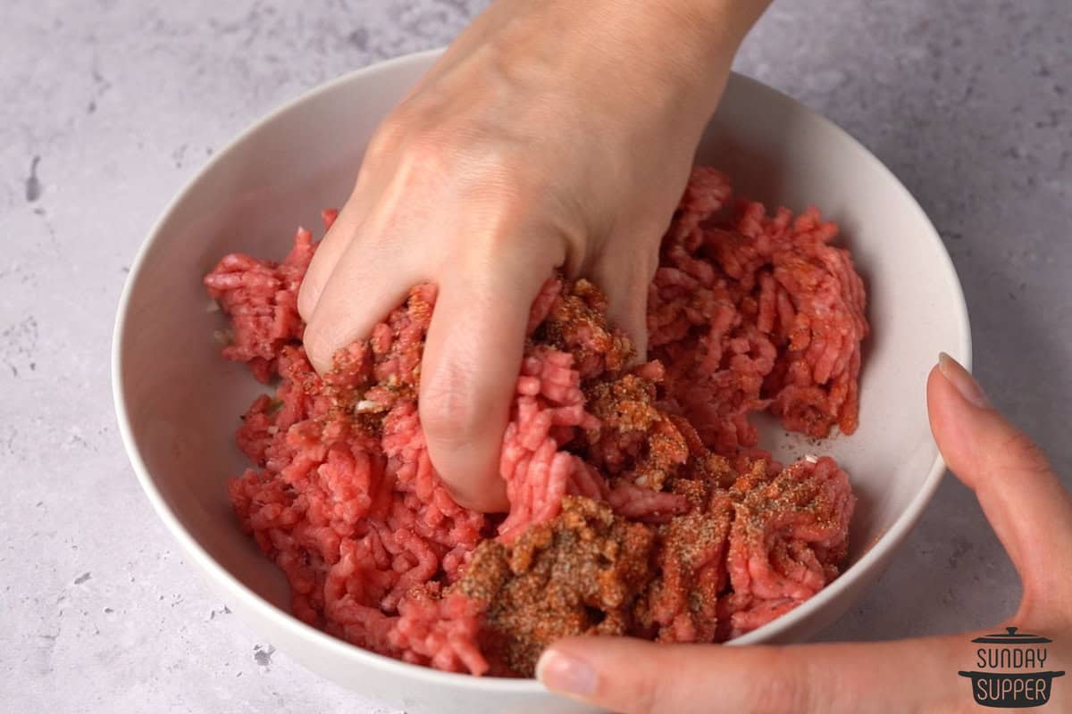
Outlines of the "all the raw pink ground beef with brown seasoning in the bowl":
[[[325,212],[330,226],[334,212]],[[417,409],[435,288],[413,288],[323,377],[282,263],[229,255],[205,277],[232,322],[224,356],[273,396],[237,434],[239,522],[291,583],[294,613],[405,662],[528,675],[570,634],[724,641],[838,574],[855,499],[830,458],[783,468],[748,414],[813,437],[857,426],[864,290],[836,227],[773,217],[698,168],[649,295],[651,361],[599,290],[552,277],[534,301],[503,438],[510,511],[459,506]]]

